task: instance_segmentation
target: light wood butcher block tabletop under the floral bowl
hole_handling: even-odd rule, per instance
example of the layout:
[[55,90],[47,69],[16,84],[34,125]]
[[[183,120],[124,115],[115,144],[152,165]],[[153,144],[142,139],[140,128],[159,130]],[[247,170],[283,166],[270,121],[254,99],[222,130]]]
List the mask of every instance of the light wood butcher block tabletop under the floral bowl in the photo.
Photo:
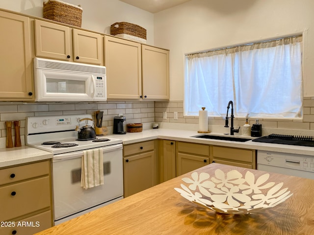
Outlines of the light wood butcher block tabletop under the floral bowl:
[[[264,171],[224,164],[209,164],[197,171],[214,174],[237,170]],[[184,199],[183,177],[146,189],[101,209],[81,215],[36,235],[313,235],[314,180],[270,173],[267,182],[283,182],[293,195],[274,208],[251,214],[222,214]]]

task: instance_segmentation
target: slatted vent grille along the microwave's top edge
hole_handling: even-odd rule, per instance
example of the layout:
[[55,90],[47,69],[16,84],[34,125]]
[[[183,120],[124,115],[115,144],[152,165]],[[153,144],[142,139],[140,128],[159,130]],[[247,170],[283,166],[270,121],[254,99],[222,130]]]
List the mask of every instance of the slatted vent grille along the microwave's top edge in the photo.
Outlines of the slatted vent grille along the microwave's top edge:
[[37,60],[38,69],[48,69],[56,71],[84,72],[90,74],[106,74],[105,66],[83,65],[72,62]]

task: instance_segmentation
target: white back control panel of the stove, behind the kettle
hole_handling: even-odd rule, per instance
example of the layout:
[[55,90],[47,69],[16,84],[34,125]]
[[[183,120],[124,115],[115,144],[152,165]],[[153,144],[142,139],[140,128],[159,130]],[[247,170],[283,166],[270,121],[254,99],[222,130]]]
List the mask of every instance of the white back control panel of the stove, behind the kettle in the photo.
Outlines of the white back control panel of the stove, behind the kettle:
[[[56,131],[75,131],[78,120],[82,118],[92,118],[89,114],[67,115],[67,116],[44,116],[26,117],[26,135],[47,133]],[[93,126],[93,121],[89,120],[87,125]]]

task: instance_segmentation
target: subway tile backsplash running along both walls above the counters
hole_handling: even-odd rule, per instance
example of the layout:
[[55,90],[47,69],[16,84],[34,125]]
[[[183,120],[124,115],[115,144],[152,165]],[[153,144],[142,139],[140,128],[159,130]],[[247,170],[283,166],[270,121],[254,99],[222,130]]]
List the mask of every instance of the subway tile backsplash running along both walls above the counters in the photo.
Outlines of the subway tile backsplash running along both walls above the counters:
[[[303,119],[293,121],[279,119],[260,119],[263,127],[279,129],[314,130],[314,97],[306,97],[303,102]],[[95,111],[104,112],[103,126],[112,132],[113,118],[118,114],[126,117],[126,123],[164,123],[171,127],[171,123],[182,123],[184,126],[198,126],[198,117],[183,116],[183,101],[106,101],[97,103],[32,103],[0,102],[0,139],[5,139],[7,120],[21,120],[21,136],[25,135],[25,119],[27,116],[50,116],[91,114],[95,118]],[[163,119],[163,112],[167,118]],[[174,112],[178,112],[178,119],[174,119]],[[235,117],[235,126],[243,126],[245,119]],[[252,125],[255,119],[249,120]],[[209,125],[223,126],[224,118],[209,118]],[[162,126],[162,125],[161,125]],[[14,134],[14,131],[13,131]],[[24,142],[24,140],[22,140]],[[0,141],[0,145],[3,143]],[[1,147],[1,146],[0,146]],[[4,145],[5,147],[5,145]]]

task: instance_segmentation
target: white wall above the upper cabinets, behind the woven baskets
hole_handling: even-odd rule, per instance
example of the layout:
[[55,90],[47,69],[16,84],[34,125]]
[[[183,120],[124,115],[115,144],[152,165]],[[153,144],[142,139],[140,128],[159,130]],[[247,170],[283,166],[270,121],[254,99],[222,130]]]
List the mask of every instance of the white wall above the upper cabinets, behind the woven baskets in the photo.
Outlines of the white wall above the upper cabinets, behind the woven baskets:
[[[0,8],[30,16],[43,17],[44,0],[0,0]],[[119,0],[63,0],[80,5],[82,28],[110,34],[116,22],[138,24],[147,30],[147,44],[154,45],[154,14]]]

